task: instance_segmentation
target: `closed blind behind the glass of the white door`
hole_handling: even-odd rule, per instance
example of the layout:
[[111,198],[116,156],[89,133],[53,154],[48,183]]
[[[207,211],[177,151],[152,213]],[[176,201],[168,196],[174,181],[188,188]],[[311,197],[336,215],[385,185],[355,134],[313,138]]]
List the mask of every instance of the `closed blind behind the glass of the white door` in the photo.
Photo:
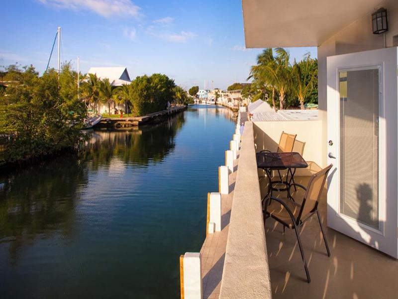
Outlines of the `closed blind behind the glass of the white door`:
[[379,70],[339,72],[340,213],[379,229]]

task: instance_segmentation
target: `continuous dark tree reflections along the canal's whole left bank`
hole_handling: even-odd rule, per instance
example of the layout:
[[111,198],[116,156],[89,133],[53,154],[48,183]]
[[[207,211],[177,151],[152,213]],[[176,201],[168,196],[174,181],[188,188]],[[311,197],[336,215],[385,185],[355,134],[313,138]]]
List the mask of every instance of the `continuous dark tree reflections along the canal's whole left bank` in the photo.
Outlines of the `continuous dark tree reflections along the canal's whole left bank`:
[[0,246],[8,245],[11,263],[36,237],[73,234],[75,207],[89,170],[98,170],[114,157],[141,167],[162,161],[174,149],[184,122],[184,114],[179,114],[139,129],[93,131],[79,158],[68,154],[0,176]]

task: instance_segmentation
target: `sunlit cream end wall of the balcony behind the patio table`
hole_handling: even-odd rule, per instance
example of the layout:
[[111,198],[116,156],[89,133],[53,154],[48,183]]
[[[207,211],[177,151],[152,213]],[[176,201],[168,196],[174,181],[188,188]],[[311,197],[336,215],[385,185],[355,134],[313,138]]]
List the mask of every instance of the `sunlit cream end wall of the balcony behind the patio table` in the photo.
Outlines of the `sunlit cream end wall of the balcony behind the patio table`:
[[297,134],[293,151],[299,152],[308,163],[308,168],[297,169],[296,175],[306,176],[326,166],[327,156],[322,151],[322,121],[272,121],[254,122],[256,152],[263,149],[276,151],[283,131]]

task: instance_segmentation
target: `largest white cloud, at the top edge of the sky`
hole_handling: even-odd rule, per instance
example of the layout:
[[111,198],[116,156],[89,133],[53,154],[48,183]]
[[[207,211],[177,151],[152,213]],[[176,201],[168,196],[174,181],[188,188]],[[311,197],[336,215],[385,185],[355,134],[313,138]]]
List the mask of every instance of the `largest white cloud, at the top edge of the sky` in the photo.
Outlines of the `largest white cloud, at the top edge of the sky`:
[[58,9],[89,10],[104,17],[134,16],[138,17],[140,7],[130,0],[38,0],[43,5]]

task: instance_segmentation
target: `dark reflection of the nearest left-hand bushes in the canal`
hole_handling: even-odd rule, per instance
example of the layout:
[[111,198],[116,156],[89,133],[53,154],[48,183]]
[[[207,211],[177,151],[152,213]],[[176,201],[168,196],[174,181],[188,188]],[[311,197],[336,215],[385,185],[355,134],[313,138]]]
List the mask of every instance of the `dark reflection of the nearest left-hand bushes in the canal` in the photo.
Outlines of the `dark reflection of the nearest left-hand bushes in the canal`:
[[50,238],[56,232],[67,238],[73,233],[87,173],[84,163],[67,155],[0,177],[0,244],[8,245],[11,262],[38,236]]

